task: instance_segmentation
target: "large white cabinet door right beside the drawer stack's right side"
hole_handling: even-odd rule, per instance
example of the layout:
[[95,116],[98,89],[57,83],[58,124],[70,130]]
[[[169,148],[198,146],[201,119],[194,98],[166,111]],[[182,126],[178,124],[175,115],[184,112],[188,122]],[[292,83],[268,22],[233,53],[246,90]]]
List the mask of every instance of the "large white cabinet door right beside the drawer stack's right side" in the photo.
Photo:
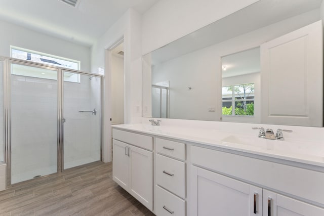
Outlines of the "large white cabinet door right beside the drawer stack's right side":
[[191,166],[191,214],[261,216],[262,189]]

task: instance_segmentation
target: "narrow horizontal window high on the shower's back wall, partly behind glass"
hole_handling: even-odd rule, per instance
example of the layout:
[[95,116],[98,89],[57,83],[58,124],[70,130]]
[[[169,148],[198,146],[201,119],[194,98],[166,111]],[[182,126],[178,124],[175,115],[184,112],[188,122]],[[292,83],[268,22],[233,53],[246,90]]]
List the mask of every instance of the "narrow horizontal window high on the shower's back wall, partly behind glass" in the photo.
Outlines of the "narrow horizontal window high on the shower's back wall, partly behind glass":
[[[57,67],[69,68],[79,70],[80,61],[66,59],[59,56],[53,56],[50,54],[39,53],[36,51],[26,50],[23,48],[11,46],[11,57],[16,59],[29,60],[32,62],[38,62]],[[46,72],[42,68],[29,67],[24,65],[13,64],[11,73],[14,75],[30,76],[44,79],[57,79],[57,72],[53,70],[47,70]],[[64,81],[80,82],[80,75],[77,73],[64,72]]]

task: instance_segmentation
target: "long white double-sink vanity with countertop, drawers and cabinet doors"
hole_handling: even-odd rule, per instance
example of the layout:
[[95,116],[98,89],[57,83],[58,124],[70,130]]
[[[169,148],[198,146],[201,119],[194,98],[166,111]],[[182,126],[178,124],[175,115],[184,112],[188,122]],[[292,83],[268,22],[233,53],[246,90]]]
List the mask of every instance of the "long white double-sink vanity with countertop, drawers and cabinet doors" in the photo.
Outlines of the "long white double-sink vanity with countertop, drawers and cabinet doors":
[[113,180],[156,215],[324,215],[320,143],[148,124],[112,131]]

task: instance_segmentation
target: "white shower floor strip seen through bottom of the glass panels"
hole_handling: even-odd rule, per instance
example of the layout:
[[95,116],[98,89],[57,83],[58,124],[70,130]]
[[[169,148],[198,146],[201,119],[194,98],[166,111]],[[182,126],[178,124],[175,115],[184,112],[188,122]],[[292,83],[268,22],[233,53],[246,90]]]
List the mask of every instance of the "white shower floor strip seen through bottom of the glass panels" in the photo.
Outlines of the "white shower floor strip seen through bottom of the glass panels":
[[[87,157],[87,158],[83,158],[83,159],[79,159],[79,160],[68,161],[68,162],[64,163],[64,169],[72,168],[72,167],[79,166],[79,165],[84,165],[84,164],[95,162],[98,160],[95,160],[91,157]],[[17,174],[15,174],[14,170],[13,170],[12,176],[11,176],[11,184],[16,184],[19,182],[30,180],[36,176],[47,176],[50,174],[54,174],[56,172],[57,172],[56,165],[50,166],[50,167],[34,169],[32,171],[20,172]]]

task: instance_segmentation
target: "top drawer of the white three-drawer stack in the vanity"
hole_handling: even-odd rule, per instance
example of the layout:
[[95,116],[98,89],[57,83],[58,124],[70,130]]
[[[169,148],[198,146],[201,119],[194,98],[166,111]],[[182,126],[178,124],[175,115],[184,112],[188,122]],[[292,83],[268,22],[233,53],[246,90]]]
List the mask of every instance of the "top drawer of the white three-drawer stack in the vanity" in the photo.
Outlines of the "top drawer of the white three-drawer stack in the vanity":
[[180,160],[186,159],[186,144],[156,138],[156,151]]

